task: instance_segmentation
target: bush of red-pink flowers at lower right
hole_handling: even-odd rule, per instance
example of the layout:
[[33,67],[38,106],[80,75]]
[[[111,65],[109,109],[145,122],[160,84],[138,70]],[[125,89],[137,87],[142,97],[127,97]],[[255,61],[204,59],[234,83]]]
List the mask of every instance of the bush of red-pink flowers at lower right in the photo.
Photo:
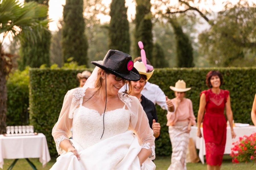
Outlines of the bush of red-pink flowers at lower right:
[[239,141],[232,143],[232,162],[256,162],[256,133],[239,137]]

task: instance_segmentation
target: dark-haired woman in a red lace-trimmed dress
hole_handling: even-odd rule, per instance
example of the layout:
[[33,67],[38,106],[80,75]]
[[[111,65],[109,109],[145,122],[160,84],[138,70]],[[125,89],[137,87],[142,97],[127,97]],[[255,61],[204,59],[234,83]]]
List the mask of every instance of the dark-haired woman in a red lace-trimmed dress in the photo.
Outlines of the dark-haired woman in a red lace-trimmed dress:
[[[229,91],[220,89],[223,82],[220,72],[210,71],[206,75],[205,82],[210,89],[204,90],[200,95],[197,136],[202,137],[200,126],[203,119],[207,170],[219,170],[226,145],[227,124],[224,108],[226,107],[226,115],[230,125],[232,125],[233,113],[230,106]],[[235,138],[233,126],[230,126],[230,129],[232,138]]]

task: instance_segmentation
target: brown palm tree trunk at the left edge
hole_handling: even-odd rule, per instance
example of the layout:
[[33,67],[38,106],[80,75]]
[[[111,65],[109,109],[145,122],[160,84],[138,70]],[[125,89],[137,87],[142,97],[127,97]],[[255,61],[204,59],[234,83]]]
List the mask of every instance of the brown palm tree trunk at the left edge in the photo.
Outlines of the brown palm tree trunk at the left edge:
[[0,134],[5,133],[6,112],[7,112],[7,88],[6,88],[6,71],[5,59],[0,44]]

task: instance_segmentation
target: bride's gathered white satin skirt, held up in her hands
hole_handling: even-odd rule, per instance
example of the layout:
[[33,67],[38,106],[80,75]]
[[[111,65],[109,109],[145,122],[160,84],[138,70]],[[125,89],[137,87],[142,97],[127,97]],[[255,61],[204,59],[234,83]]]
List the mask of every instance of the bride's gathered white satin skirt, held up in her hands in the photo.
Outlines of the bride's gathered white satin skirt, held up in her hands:
[[154,170],[156,165],[147,158],[142,164],[139,163],[138,153],[141,146],[136,135],[132,131],[115,135],[104,139],[95,145],[83,149],[76,141],[70,140],[78,151],[80,160],[67,152],[57,158],[57,162],[51,170]]

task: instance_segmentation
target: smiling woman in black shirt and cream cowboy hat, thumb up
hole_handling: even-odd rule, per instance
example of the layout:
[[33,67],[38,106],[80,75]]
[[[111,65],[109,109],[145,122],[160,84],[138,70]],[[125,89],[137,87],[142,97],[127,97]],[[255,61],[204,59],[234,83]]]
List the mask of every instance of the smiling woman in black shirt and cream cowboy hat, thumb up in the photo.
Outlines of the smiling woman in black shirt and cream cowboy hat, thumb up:
[[144,63],[139,61],[134,63],[134,68],[139,71],[141,79],[138,81],[131,81],[131,95],[137,97],[141,102],[143,110],[147,114],[149,126],[151,129],[153,129],[154,137],[156,140],[158,140],[161,126],[159,123],[157,123],[158,118],[156,114],[156,107],[152,101],[148,100],[144,95],[141,94],[141,90],[145,84],[147,84],[147,81],[152,76],[154,70],[152,70],[150,73],[147,73]]

